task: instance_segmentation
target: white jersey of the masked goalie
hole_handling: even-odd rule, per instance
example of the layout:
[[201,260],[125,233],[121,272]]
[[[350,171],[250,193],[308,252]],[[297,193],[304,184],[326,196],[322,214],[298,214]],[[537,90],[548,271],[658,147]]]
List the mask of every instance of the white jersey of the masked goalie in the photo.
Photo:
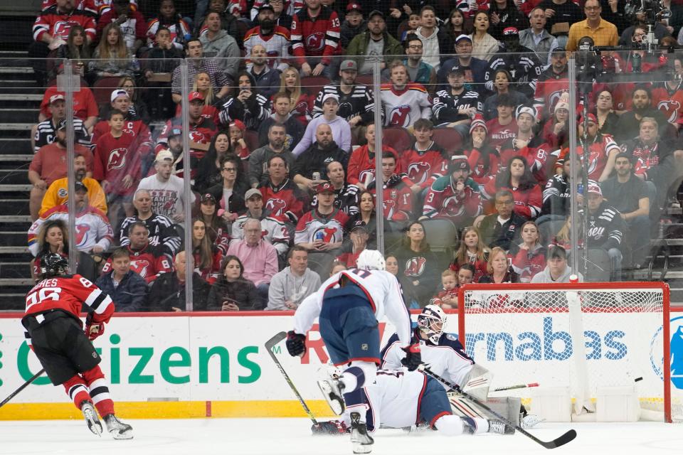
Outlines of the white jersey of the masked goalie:
[[[450,333],[443,333],[438,345],[420,339],[420,354],[423,363],[428,365],[430,370],[460,386],[463,385],[467,374],[472,370],[472,365],[475,364],[475,361],[465,354],[456,336]],[[396,370],[403,366],[401,359],[406,357],[406,351],[401,349],[401,342],[396,333],[389,338],[380,357],[380,368],[385,370]]]

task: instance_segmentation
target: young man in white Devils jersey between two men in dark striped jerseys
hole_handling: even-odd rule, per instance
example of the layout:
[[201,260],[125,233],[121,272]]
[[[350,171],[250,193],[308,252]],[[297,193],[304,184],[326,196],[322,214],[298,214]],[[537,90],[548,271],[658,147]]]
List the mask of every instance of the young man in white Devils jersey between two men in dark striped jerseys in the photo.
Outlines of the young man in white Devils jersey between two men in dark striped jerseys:
[[384,124],[388,127],[412,127],[417,119],[428,119],[432,103],[427,90],[420,84],[409,82],[408,68],[401,61],[389,67],[389,82],[381,85],[381,102],[385,112]]

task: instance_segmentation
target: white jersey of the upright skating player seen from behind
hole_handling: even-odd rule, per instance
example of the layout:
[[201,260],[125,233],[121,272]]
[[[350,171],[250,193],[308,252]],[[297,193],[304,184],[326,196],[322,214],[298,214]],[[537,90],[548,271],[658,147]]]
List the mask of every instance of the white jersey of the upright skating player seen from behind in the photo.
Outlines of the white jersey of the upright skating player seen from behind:
[[396,336],[402,346],[411,341],[411,316],[406,304],[403,303],[403,293],[398,280],[386,270],[342,270],[329,277],[313,294],[307,296],[294,314],[294,331],[305,334],[313,325],[314,319],[322,309],[322,299],[325,291],[339,287],[342,274],[361,288],[372,307],[375,317],[379,320],[386,314],[387,319],[396,327]]

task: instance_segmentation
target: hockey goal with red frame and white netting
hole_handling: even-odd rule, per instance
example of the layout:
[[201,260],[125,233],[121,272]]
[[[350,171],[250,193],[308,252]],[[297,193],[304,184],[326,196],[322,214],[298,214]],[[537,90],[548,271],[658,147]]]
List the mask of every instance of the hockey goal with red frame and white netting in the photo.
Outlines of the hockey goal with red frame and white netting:
[[[492,389],[569,387],[575,406],[590,408],[598,387],[635,385],[642,409],[667,422],[672,404],[681,412],[683,390],[674,387],[681,395],[672,398],[667,284],[467,284],[458,301],[460,341],[492,371]],[[506,394],[529,400],[532,392]]]

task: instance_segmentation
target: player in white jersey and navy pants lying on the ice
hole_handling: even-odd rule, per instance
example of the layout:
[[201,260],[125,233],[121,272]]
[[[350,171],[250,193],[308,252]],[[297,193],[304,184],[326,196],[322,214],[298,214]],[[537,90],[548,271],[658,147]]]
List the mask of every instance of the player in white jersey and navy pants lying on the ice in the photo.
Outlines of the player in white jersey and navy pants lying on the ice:
[[[358,391],[365,397],[364,427],[368,432],[378,428],[405,428],[426,422],[447,436],[458,434],[514,434],[514,428],[504,422],[484,417],[459,417],[452,414],[448,395],[442,385],[420,371],[378,370],[375,382]],[[354,438],[354,414],[344,415],[345,426],[351,425]],[[415,422],[417,416],[418,422]],[[354,444],[354,453],[364,454],[369,446]]]

